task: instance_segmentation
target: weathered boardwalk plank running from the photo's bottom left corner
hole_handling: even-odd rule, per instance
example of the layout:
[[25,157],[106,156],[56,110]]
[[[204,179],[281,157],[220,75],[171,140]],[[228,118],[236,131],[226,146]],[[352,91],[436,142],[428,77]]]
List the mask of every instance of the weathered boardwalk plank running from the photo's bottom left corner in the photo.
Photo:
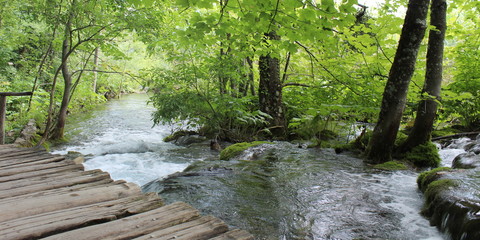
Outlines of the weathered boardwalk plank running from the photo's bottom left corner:
[[0,223],[4,239],[37,239],[124,216],[153,210],[163,205],[156,194],[123,198]]

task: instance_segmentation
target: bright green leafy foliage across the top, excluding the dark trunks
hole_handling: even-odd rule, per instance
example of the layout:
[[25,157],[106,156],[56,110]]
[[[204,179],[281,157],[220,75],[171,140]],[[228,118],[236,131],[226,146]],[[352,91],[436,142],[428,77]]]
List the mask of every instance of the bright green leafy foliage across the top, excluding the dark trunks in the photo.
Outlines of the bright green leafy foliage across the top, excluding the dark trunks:
[[[105,95],[151,90],[155,123],[187,123],[234,142],[269,136],[259,111],[258,58],[280,60],[288,130],[303,139],[334,123],[376,119],[395,53],[405,1],[363,8],[348,1],[1,1],[0,91],[8,98],[7,130],[30,118],[55,117],[65,85],[60,55],[65,20],[74,15],[69,55],[74,87],[68,113],[88,111]],[[76,3],[76,4],[74,4]],[[478,3],[450,6],[446,86],[439,120],[478,127]],[[277,40],[265,33],[275,31]],[[80,42],[77,42],[80,41]],[[99,49],[94,64],[94,49]],[[405,121],[421,98],[425,45],[409,88]],[[95,74],[94,69],[97,69]],[[94,89],[94,84],[96,88]],[[50,93],[53,93],[50,96]],[[347,125],[348,125],[347,124]],[[365,143],[363,143],[365,144]],[[360,144],[362,145],[362,144]],[[362,146],[360,146],[362,147]]]

